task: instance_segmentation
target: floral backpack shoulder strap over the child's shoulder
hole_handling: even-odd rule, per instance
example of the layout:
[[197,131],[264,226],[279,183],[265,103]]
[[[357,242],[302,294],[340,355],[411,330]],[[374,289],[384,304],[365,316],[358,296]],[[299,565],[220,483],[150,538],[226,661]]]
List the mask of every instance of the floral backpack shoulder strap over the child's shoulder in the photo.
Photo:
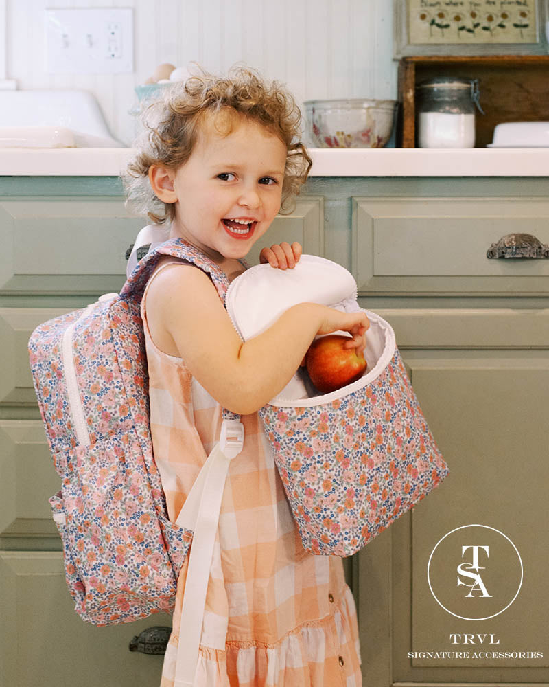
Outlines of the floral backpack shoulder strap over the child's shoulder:
[[215,264],[215,262],[205,256],[202,251],[191,246],[182,238],[171,238],[161,243],[159,246],[156,246],[154,250],[141,258],[130,274],[126,284],[122,287],[120,297],[131,298],[137,300],[137,302],[141,301],[150,275],[163,255],[187,260],[196,265],[196,267],[202,269],[202,271],[205,271],[211,278],[215,288],[218,290],[220,299],[224,303],[226,290],[229,288],[229,279],[227,275],[218,264]]

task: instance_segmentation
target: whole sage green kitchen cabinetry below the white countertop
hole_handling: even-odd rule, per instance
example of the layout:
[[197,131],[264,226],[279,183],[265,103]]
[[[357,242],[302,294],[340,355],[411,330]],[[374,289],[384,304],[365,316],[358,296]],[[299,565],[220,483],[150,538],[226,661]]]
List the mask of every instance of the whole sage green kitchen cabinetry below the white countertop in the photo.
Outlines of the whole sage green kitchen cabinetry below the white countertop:
[[[0,687],[152,687],[161,657],[128,644],[169,617],[96,628],[72,610],[47,503],[58,477],[27,357],[37,324],[119,289],[145,222],[124,209],[115,178],[0,181]],[[549,260],[486,256],[513,232],[549,243],[548,190],[546,179],[314,177],[261,244],[299,240],[305,253],[353,272],[360,304],[395,329],[450,468],[427,499],[346,561],[365,687],[549,684]],[[524,563],[513,604],[478,622],[445,611],[426,575],[441,537],[470,523],[504,532]],[[505,579],[496,571],[493,588]],[[498,651],[543,656],[422,657],[472,649],[450,635],[493,635]]]

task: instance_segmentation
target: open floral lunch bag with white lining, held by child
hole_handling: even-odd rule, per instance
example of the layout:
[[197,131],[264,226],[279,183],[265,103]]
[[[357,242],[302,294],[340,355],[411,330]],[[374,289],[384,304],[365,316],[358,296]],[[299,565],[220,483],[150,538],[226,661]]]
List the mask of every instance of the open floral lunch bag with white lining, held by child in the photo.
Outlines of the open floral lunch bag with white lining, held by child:
[[[231,282],[225,305],[246,341],[299,302],[353,312],[360,309],[356,297],[346,269],[303,255],[291,270],[251,267]],[[449,473],[393,329],[365,312],[367,368],[360,379],[320,394],[300,368],[259,411],[303,546],[313,554],[355,553]]]

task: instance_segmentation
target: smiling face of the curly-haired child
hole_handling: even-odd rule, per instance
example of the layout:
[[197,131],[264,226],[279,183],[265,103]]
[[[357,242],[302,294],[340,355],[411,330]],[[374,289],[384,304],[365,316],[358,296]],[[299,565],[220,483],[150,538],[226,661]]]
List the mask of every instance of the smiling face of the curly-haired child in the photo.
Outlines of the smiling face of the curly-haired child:
[[191,157],[170,173],[171,236],[215,261],[245,256],[280,209],[286,155],[283,142],[257,122],[241,118],[228,135],[205,122]]

